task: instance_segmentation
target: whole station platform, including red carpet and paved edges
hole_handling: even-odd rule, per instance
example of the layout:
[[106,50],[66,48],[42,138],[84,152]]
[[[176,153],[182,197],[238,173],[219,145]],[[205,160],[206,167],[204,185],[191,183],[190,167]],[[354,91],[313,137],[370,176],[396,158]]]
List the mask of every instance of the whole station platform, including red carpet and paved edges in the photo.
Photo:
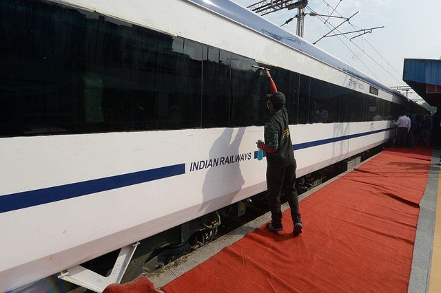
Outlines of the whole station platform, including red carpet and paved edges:
[[284,204],[281,232],[267,213],[104,293],[441,292],[440,156],[386,149],[300,195],[298,237]]

